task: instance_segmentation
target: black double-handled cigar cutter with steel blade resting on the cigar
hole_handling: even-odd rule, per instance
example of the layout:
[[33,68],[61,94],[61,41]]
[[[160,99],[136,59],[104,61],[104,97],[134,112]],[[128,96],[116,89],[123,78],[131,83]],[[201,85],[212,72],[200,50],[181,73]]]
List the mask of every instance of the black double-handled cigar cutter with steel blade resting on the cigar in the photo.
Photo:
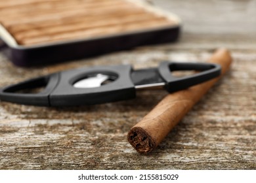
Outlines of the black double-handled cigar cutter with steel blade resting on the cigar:
[[[200,71],[177,77],[172,71]],[[74,69],[26,80],[0,90],[1,101],[47,107],[95,105],[133,99],[136,90],[163,86],[168,92],[184,90],[221,74],[213,63],[163,61],[159,67],[134,70],[131,65]],[[25,90],[44,87],[39,93]]]

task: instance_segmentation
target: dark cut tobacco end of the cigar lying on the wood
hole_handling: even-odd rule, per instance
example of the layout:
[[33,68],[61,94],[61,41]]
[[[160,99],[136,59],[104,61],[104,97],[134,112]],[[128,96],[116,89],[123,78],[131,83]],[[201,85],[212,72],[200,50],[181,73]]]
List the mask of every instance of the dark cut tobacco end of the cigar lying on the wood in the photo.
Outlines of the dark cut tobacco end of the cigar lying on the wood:
[[156,142],[141,127],[133,127],[129,131],[127,139],[133,148],[135,148],[135,150],[140,154],[148,154],[156,148]]

